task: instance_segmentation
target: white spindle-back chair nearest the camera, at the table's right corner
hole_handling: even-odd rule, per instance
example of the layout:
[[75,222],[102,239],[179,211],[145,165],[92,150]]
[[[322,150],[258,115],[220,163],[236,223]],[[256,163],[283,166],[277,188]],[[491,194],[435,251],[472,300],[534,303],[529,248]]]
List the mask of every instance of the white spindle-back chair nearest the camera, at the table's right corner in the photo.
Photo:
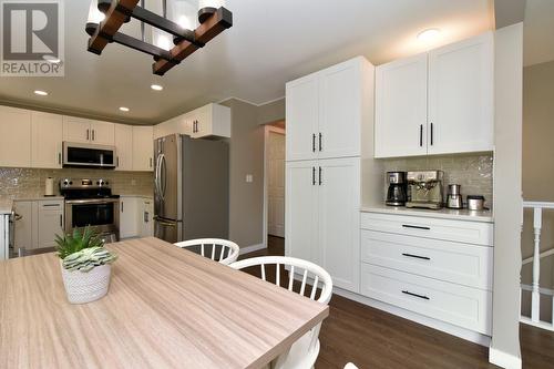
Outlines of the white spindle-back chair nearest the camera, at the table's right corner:
[[[285,266],[288,269],[288,290],[295,291],[295,275],[301,277],[301,284],[299,286],[298,294],[308,296],[310,299],[316,299],[316,294],[318,288],[320,288],[318,303],[329,304],[332,295],[332,279],[329,273],[327,273],[320,266],[306,262],[302,259],[297,259],[294,257],[285,256],[263,256],[254,257],[249,259],[239,260],[233,263],[230,267],[235,269],[244,269],[247,267],[259,266],[261,271],[261,279],[266,279],[266,265],[275,265],[275,284],[281,286],[281,271],[280,266]],[[311,283],[311,289],[307,289],[306,285],[308,281]],[[321,324],[314,327],[310,331],[298,339],[290,348],[288,355],[280,356],[275,362],[271,363],[271,368],[278,369],[307,369],[314,368],[316,359],[319,355],[319,330],[321,329]]]

